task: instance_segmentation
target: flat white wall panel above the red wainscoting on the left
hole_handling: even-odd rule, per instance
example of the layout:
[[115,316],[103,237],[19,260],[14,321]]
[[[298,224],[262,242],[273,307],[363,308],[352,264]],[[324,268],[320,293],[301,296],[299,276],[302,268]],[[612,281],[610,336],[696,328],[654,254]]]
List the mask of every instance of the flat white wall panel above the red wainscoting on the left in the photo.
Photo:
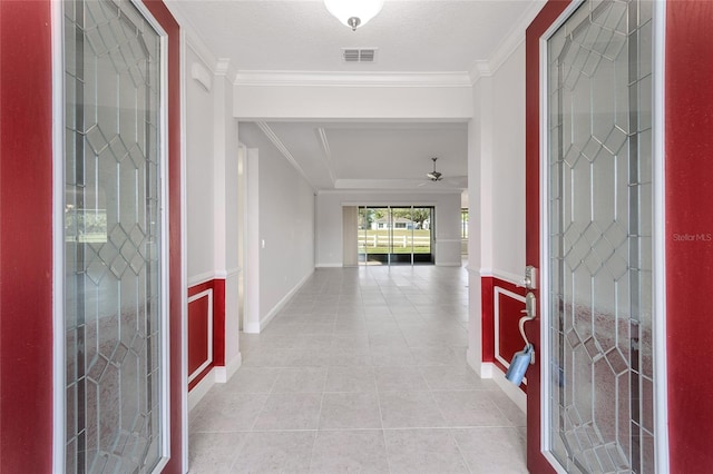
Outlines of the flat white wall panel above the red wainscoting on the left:
[[[192,68],[208,66],[186,48],[186,246],[188,285],[214,275],[214,113],[213,89],[192,78]],[[211,73],[212,76],[212,73]]]

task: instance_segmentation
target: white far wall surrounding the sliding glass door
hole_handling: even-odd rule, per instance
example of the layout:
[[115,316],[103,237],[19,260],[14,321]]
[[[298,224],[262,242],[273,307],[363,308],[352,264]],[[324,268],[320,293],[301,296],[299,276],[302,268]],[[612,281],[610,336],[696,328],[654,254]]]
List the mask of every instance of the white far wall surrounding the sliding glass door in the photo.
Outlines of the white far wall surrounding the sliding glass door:
[[316,266],[341,267],[342,206],[434,206],[436,265],[461,265],[460,192],[320,191],[316,197]]

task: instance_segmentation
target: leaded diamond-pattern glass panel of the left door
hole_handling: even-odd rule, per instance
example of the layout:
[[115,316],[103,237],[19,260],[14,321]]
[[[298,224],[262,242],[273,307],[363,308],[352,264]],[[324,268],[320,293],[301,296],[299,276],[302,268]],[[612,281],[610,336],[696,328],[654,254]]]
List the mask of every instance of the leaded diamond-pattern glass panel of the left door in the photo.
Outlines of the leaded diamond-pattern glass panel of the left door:
[[62,4],[65,467],[147,473],[162,455],[160,42],[129,0]]

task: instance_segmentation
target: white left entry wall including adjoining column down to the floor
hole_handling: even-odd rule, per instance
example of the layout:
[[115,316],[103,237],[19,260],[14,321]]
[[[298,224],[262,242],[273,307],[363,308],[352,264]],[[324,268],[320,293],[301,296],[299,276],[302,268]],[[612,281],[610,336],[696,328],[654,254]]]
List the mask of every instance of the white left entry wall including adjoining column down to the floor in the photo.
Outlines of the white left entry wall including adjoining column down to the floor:
[[[184,63],[186,97],[186,255],[188,286],[225,279],[225,367],[215,381],[226,382],[240,367],[237,255],[237,120],[225,63],[205,59],[187,41]],[[219,302],[223,304],[223,302]]]

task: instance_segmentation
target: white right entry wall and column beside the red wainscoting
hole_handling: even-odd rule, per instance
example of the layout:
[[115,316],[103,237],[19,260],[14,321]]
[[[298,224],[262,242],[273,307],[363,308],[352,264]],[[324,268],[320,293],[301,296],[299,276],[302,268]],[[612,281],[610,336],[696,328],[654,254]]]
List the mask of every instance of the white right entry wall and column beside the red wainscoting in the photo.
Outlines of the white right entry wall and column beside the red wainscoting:
[[525,43],[473,86],[468,124],[468,362],[484,377],[481,279],[518,283],[525,270]]

